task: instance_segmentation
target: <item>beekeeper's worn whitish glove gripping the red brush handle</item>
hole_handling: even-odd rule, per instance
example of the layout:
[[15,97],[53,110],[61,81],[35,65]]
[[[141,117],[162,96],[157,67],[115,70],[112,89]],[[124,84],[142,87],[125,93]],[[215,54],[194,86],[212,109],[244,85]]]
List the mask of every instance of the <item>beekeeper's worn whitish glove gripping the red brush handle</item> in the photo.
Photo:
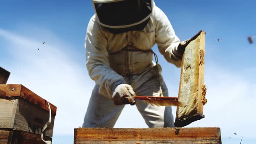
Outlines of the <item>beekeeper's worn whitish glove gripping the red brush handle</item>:
[[112,100],[114,101],[115,105],[135,105],[135,99],[132,97],[132,95],[135,95],[135,92],[133,91],[131,85],[120,84],[115,88],[112,95]]

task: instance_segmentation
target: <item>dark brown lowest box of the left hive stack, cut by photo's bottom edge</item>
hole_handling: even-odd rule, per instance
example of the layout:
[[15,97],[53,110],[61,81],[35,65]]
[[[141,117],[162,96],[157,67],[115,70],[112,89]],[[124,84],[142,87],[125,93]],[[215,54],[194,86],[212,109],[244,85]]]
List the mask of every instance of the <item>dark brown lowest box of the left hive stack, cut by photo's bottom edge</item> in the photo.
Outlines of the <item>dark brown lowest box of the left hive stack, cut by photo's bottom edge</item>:
[[[44,136],[44,140],[52,141],[51,137]],[[45,144],[40,134],[15,129],[0,129],[0,144]]]

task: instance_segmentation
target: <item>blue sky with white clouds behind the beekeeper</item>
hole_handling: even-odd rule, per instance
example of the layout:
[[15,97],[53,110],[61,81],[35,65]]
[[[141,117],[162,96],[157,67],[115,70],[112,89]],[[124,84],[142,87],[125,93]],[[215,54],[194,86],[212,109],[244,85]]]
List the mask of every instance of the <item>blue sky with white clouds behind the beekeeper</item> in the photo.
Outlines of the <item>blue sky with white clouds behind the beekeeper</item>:
[[[223,144],[239,143],[242,136],[246,144],[255,140],[256,44],[249,44],[247,37],[252,35],[256,41],[256,1],[155,3],[181,40],[200,29],[206,31],[208,103],[205,118],[187,127],[220,127],[223,140],[226,138]],[[11,72],[8,83],[23,84],[58,107],[54,144],[72,143],[73,129],[82,125],[89,102],[94,82],[85,68],[84,40],[93,14],[90,0],[0,1],[0,66]],[[169,95],[177,96],[181,69],[165,62],[157,46],[153,49],[158,53]],[[131,124],[125,122],[128,120]],[[136,108],[127,105],[115,127],[147,126]]]

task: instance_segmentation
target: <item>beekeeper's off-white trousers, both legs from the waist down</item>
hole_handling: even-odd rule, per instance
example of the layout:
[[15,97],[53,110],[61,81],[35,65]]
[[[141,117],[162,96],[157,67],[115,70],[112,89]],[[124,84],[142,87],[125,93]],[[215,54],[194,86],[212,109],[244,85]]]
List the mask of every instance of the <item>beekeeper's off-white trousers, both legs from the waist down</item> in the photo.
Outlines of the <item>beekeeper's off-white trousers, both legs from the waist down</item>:
[[[159,74],[157,74],[159,72]],[[139,75],[124,76],[136,95],[160,96],[159,82],[163,96],[168,96],[168,90],[161,76],[161,67],[154,66],[148,72]],[[83,128],[113,128],[125,105],[114,105],[114,101],[98,94],[96,84],[85,114]],[[143,100],[136,100],[136,107],[149,128],[174,127],[171,107],[153,106]]]

